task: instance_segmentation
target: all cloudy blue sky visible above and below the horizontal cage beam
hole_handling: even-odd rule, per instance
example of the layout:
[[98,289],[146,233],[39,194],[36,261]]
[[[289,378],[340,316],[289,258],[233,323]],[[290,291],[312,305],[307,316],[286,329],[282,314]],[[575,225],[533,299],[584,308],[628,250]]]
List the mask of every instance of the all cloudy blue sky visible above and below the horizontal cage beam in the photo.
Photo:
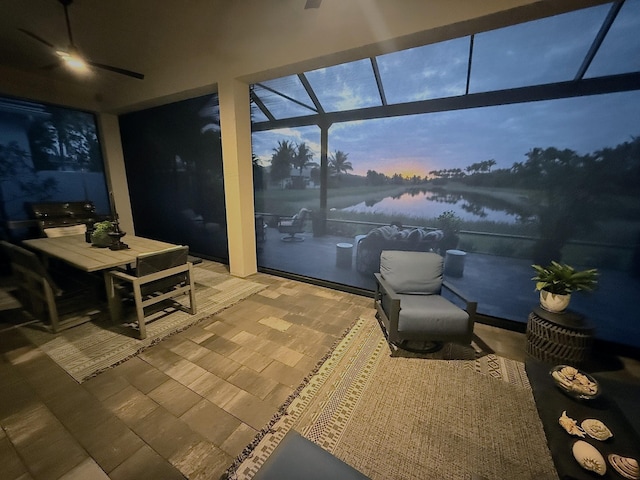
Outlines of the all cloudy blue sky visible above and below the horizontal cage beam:
[[[476,35],[470,91],[570,80],[608,10],[609,5],[600,5]],[[639,71],[638,28],[640,0],[628,0],[586,77]],[[469,39],[461,38],[378,57],[387,98],[402,102],[463,94],[468,48]],[[368,59],[306,75],[327,111],[379,104]],[[295,87],[296,80],[286,84]],[[299,87],[289,92],[311,104]],[[274,111],[295,116],[287,113],[293,110],[286,102],[271,98]],[[534,147],[591,153],[639,135],[640,91],[635,91],[334,124],[329,152],[347,153],[355,174],[424,176],[489,159],[497,162],[494,168],[508,168]],[[317,127],[255,133],[253,151],[263,164],[279,140],[305,142],[319,162]]]

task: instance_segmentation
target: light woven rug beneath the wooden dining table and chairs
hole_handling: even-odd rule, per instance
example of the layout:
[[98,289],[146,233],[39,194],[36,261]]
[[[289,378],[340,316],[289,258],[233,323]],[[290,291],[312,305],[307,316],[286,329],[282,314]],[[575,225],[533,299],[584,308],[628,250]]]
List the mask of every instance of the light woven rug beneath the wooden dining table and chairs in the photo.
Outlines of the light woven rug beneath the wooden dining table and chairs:
[[[139,340],[132,328],[133,308],[125,310],[123,324],[113,324],[102,314],[88,323],[53,334],[41,322],[20,327],[24,335],[78,382],[122,363],[162,339],[266,288],[266,285],[196,266],[194,282],[197,313],[190,315],[174,305],[157,312],[147,323],[147,338]],[[186,297],[185,297],[186,298]],[[185,303],[188,300],[185,299]],[[97,308],[100,311],[100,308]]]

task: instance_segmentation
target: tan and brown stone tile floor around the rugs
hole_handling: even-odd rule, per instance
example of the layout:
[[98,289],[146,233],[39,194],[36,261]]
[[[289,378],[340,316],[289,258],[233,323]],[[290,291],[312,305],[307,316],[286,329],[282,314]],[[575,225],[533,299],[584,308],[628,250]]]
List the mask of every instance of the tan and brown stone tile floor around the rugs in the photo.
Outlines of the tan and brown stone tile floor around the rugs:
[[[206,262],[207,268],[226,266]],[[0,477],[218,479],[372,299],[266,274],[268,288],[82,384],[0,332]],[[524,360],[523,334],[477,324]],[[625,360],[636,380],[640,362]]]

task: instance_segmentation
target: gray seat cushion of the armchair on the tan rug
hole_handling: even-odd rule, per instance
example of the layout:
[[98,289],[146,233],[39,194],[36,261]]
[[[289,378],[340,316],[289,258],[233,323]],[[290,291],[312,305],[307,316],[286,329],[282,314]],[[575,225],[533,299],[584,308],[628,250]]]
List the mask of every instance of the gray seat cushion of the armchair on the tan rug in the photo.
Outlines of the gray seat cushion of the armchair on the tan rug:
[[440,295],[400,295],[398,332],[403,336],[428,332],[438,335],[465,335],[469,314]]

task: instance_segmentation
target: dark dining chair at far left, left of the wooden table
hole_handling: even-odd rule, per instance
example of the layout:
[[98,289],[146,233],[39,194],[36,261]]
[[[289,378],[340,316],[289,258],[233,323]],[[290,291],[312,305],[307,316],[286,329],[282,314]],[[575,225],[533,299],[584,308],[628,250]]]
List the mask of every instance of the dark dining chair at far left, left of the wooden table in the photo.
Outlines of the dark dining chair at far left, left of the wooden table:
[[96,283],[91,279],[68,275],[55,275],[54,279],[32,251],[5,240],[0,245],[9,258],[20,303],[39,320],[47,319],[54,333],[84,323],[101,312]]

